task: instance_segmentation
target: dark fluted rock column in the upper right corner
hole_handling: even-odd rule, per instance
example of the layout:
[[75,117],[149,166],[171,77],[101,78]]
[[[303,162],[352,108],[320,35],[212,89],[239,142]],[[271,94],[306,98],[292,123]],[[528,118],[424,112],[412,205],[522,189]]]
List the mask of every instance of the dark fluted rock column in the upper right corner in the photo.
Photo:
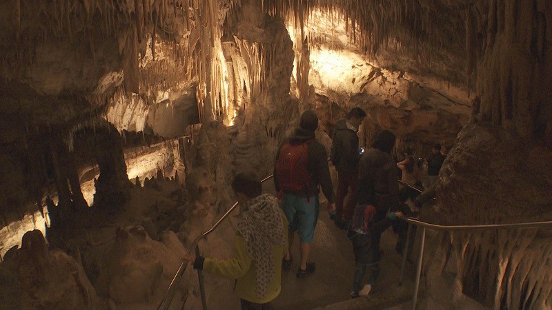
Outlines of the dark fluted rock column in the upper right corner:
[[[552,4],[480,1],[466,9],[477,117],[552,147]],[[471,21],[471,23],[468,23]]]

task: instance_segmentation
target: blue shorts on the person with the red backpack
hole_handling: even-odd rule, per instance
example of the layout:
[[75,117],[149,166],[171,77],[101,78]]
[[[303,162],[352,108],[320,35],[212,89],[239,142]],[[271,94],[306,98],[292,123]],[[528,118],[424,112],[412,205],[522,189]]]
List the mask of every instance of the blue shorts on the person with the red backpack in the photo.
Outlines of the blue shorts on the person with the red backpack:
[[301,243],[313,242],[320,210],[318,195],[312,196],[309,200],[306,197],[284,193],[280,205],[288,218],[289,231],[299,229]]

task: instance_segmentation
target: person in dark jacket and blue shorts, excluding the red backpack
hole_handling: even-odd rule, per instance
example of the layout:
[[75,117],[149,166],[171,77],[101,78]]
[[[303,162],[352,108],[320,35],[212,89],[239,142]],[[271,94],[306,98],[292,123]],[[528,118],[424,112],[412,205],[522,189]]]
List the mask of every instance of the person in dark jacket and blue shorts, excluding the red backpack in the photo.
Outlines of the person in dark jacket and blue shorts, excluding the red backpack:
[[[298,145],[306,143],[308,147],[308,158],[306,161],[306,171],[308,172],[308,185],[302,187],[298,191],[286,192],[280,186],[280,181],[277,178],[277,165],[275,165],[274,185],[276,192],[281,193],[282,209],[288,218],[289,230],[289,249],[293,244],[295,231],[299,230],[299,251],[301,254],[301,262],[297,269],[297,278],[304,278],[308,273],[315,270],[314,262],[308,262],[308,254],[311,251],[311,242],[313,242],[314,231],[318,220],[319,213],[319,187],[322,187],[322,192],[328,200],[328,211],[335,210],[335,198],[333,194],[333,185],[328,167],[328,154],[326,148],[321,143],[315,140],[315,130],[318,127],[318,117],[315,112],[309,110],[302,114],[299,128],[295,130],[292,136],[285,141],[282,146],[287,143]],[[279,147],[275,163],[278,163],[278,158],[282,146]],[[290,269],[292,258],[290,251],[286,254],[282,267]]]

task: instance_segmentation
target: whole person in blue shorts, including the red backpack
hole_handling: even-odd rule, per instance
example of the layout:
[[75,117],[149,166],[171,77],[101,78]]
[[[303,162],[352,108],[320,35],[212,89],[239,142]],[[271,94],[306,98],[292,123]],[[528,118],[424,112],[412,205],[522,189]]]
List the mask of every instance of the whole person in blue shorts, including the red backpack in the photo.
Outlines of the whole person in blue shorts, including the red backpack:
[[282,267],[290,269],[291,245],[299,230],[301,262],[297,278],[315,271],[315,263],[308,261],[319,213],[319,187],[328,199],[328,211],[335,210],[333,185],[324,145],[316,141],[318,117],[309,110],[302,114],[299,128],[279,147],[274,167],[274,185],[281,198],[282,209],[288,218],[288,253]]

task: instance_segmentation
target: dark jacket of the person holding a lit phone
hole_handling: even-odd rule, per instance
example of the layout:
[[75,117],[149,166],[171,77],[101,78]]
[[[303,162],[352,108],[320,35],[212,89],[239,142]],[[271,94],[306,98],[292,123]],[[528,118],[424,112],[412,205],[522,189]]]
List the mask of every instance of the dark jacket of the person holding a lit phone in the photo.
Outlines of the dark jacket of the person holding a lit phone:
[[335,165],[337,172],[356,172],[359,158],[357,132],[349,129],[346,119],[342,118],[335,123],[332,164]]

